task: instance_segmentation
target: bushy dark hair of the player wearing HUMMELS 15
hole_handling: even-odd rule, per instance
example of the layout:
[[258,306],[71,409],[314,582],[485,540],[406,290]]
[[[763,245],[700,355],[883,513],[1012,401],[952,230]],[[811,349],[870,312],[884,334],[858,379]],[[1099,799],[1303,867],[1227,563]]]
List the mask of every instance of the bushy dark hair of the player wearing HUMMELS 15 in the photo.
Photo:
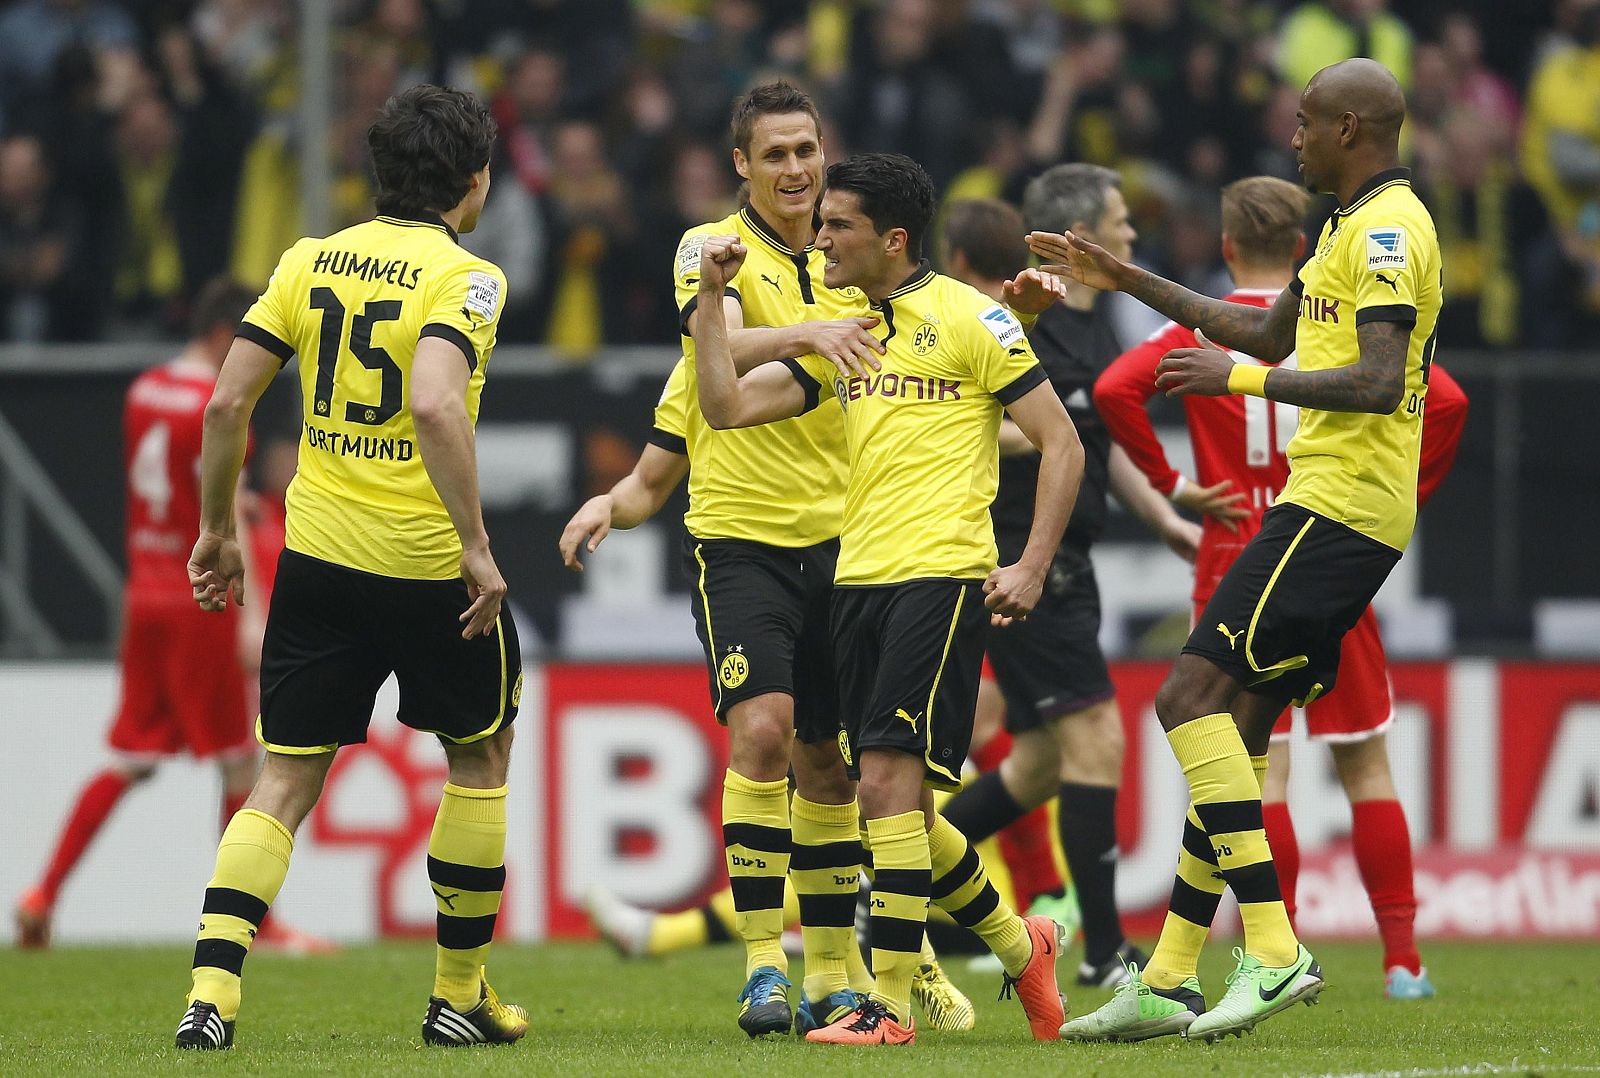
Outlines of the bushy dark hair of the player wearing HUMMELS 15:
[[490,110],[464,90],[422,85],[397,93],[366,130],[378,213],[454,210],[490,163],[494,134]]

